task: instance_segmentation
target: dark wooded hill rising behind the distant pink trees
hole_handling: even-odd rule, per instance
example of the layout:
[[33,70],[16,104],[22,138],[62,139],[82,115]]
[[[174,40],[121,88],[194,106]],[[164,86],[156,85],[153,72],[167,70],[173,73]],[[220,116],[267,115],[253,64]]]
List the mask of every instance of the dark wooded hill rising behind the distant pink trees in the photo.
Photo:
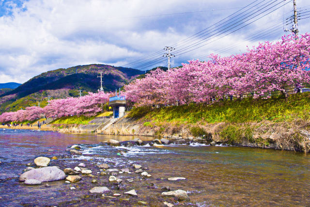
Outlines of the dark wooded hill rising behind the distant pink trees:
[[0,93],[0,112],[17,111],[37,105],[38,102],[44,105],[47,104],[48,96],[51,98],[79,96],[79,90],[82,90],[83,94],[96,92],[100,88],[100,78],[97,78],[100,71],[103,73],[105,91],[114,91],[143,74],[143,71],[137,69],[104,64],[78,65],[47,71],[14,90],[3,90]]

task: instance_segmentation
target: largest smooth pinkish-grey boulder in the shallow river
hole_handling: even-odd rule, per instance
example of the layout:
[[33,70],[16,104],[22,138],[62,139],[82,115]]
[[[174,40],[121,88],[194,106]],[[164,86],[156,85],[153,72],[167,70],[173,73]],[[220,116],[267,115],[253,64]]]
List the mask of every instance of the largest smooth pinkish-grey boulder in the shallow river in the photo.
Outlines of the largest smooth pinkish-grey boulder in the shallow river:
[[37,168],[27,171],[20,175],[19,181],[25,181],[27,179],[36,179],[41,182],[63,180],[66,178],[64,172],[56,166]]

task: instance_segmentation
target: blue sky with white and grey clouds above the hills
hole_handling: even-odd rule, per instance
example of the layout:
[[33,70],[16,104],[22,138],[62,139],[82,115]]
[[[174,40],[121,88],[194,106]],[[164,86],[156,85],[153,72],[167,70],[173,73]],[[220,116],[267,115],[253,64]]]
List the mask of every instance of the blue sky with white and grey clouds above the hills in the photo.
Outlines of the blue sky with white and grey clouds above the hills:
[[[283,6],[284,5],[284,6]],[[292,27],[291,0],[0,0],[0,83],[82,64],[146,70],[240,53]],[[310,2],[297,0],[300,33]],[[273,11],[275,10],[275,11]],[[288,19],[287,19],[288,18]]]

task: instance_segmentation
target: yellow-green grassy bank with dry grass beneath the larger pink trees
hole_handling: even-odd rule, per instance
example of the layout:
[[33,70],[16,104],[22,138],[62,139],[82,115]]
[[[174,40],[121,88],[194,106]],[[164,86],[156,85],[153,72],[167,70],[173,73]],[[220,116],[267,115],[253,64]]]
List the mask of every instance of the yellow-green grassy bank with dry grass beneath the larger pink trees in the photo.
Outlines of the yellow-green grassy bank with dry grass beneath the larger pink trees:
[[310,93],[270,99],[224,100],[212,105],[189,104],[136,108],[129,117],[158,135],[211,137],[237,145],[310,150]]

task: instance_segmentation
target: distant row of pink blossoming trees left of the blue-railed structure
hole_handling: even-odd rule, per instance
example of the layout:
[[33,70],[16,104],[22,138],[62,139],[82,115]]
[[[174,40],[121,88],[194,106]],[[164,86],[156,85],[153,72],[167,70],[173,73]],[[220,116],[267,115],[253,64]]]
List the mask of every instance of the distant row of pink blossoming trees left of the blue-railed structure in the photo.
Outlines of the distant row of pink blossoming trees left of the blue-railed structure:
[[68,97],[64,99],[53,99],[44,108],[32,106],[25,110],[4,112],[0,115],[0,122],[22,122],[33,121],[42,117],[62,117],[69,115],[93,116],[102,111],[101,105],[109,101],[111,93],[89,93],[81,97]]

